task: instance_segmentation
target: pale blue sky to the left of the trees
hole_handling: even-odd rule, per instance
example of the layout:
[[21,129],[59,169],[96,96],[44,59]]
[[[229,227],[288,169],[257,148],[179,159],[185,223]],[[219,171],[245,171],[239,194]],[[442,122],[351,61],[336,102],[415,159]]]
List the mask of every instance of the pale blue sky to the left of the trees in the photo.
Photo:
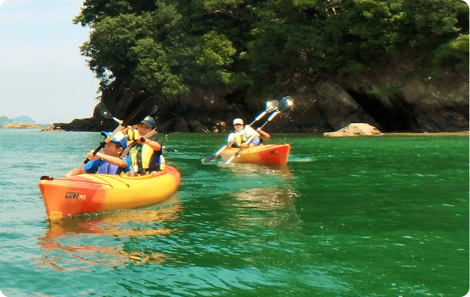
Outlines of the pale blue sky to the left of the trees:
[[79,48],[90,29],[72,24],[83,0],[7,0],[0,6],[0,116],[38,124],[91,117],[99,81]]

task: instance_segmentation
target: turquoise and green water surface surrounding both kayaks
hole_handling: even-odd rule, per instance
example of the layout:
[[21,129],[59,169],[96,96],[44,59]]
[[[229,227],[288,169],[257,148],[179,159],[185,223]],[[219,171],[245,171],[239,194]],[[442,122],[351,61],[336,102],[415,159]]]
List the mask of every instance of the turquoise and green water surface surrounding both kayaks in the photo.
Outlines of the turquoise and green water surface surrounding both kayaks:
[[469,137],[274,134],[287,166],[202,164],[225,135],[174,133],[165,203],[49,223],[38,182],[99,133],[0,129],[7,297],[461,297]]

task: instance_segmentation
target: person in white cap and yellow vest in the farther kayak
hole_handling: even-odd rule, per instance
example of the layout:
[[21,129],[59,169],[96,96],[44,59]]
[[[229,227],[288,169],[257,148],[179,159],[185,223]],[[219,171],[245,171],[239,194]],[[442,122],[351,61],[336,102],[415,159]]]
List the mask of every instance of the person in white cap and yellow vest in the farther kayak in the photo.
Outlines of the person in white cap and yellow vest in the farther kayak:
[[[243,119],[235,118],[233,120],[233,125],[235,132],[228,134],[227,142],[232,142],[232,148],[241,148],[241,147],[253,147],[260,145],[261,142],[267,141],[270,137],[268,133],[263,131],[261,128],[253,129],[251,126],[246,125],[243,127]],[[243,131],[243,132],[242,132]],[[249,143],[245,144],[244,142],[248,140],[252,135],[256,135],[255,138]]]

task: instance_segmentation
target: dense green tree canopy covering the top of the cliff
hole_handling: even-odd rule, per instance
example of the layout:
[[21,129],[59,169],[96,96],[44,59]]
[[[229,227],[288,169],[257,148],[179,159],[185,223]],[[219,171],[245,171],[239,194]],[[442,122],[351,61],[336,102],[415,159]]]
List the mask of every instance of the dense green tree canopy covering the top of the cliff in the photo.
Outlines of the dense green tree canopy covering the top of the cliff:
[[282,70],[347,74],[400,50],[469,64],[462,0],[86,0],[75,23],[102,88],[184,94],[191,82],[279,88]]

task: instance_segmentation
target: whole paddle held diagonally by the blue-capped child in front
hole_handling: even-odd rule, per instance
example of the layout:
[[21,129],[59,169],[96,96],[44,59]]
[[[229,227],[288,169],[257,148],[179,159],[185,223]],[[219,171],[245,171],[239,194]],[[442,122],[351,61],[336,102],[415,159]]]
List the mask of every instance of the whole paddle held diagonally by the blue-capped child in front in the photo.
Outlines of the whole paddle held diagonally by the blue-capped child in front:
[[[96,155],[97,152],[100,151],[100,149],[104,148],[106,143],[110,142],[111,139],[118,133],[119,131],[123,130],[125,126],[132,126],[135,124],[140,123],[140,121],[147,115],[149,114],[149,111],[153,109],[154,106],[154,94],[152,91],[146,91],[138,96],[136,96],[127,106],[127,109],[125,110],[124,117],[125,119],[123,121],[120,121],[120,125],[108,136],[104,141],[100,143],[100,145],[94,149],[93,155]],[[75,172],[72,173],[72,176],[75,175],[80,169],[83,168],[83,166],[88,163],[90,159],[86,158],[83,163],[75,170]]]

